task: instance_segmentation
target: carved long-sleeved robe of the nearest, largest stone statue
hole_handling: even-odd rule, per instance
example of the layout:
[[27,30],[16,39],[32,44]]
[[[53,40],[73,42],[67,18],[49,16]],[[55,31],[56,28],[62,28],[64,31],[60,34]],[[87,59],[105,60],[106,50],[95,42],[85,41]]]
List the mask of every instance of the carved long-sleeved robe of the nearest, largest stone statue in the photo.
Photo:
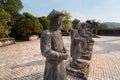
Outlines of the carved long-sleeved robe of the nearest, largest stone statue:
[[41,53],[46,57],[44,80],[66,80],[62,52],[65,51],[61,33],[45,30],[41,34]]

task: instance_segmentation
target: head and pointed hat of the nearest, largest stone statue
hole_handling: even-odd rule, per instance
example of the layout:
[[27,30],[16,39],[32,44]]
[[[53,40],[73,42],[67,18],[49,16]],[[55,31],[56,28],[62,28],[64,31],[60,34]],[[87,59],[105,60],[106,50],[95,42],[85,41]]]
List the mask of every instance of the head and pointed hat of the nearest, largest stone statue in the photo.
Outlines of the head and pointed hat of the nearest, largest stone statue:
[[53,9],[53,11],[47,16],[47,18],[50,20],[49,29],[58,29],[61,26],[63,17],[64,14],[62,12]]

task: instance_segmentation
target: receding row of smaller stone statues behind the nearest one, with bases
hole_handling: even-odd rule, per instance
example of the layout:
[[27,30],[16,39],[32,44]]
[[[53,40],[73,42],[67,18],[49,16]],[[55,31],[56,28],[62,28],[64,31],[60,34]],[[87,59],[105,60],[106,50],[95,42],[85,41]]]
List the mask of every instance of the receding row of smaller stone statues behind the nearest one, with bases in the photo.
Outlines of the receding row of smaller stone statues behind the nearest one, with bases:
[[70,55],[72,60],[67,64],[66,70],[68,74],[87,80],[89,74],[89,64],[81,61],[81,59],[91,60],[94,40],[92,39],[92,30],[90,21],[82,23],[79,28],[79,20],[72,21],[71,48]]

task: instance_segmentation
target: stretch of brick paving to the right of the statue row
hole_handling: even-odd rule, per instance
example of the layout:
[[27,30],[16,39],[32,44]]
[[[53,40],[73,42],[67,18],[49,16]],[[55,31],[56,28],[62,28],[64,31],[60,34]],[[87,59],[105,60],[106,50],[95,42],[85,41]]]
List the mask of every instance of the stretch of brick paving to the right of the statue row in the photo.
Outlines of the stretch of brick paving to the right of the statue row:
[[95,39],[88,80],[120,80],[120,37]]

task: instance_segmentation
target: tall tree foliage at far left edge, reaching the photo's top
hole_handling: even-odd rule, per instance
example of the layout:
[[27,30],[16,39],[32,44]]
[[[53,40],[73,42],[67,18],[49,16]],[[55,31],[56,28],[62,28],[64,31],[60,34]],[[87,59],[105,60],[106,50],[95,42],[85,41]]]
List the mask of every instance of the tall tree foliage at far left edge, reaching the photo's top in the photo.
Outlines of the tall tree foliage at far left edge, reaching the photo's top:
[[0,37],[6,37],[11,32],[8,22],[14,22],[23,8],[21,0],[0,0]]

